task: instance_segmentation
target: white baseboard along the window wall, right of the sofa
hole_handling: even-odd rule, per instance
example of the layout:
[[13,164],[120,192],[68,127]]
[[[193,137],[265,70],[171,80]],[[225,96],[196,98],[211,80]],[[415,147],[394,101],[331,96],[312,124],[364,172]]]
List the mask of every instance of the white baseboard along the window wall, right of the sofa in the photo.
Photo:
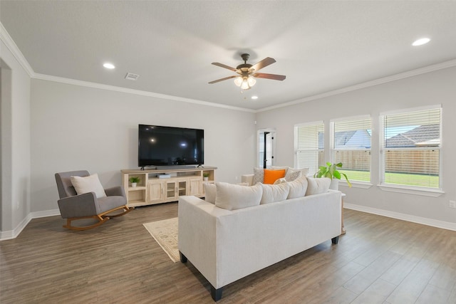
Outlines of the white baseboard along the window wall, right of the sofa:
[[356,210],[356,211],[362,211],[362,212],[366,212],[366,213],[370,213],[370,214],[387,216],[387,217],[390,217],[393,219],[401,219],[403,221],[411,221],[411,222],[417,223],[417,224],[423,224],[423,225],[427,225],[427,226],[456,231],[456,223],[451,223],[449,221],[438,221],[437,219],[426,219],[425,217],[413,216],[410,214],[402,214],[399,212],[376,209],[376,208],[366,207],[366,206],[361,206],[361,205],[347,204],[345,202],[343,203],[343,208],[352,209],[352,210]]

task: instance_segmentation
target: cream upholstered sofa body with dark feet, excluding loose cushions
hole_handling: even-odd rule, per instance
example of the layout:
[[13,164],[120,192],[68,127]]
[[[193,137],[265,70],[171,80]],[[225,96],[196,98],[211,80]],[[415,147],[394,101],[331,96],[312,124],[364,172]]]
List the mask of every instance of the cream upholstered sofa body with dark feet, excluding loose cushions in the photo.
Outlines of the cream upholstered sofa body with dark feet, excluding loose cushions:
[[341,192],[227,210],[180,196],[179,251],[212,285],[211,295],[251,273],[341,234]]

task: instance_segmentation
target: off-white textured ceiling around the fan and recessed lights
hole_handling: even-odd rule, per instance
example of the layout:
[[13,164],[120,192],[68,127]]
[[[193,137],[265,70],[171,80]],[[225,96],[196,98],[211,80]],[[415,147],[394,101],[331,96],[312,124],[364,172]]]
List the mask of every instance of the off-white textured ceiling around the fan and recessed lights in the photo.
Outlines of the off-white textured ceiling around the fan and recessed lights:
[[[34,73],[252,110],[456,58],[456,1],[1,0],[0,21]],[[286,80],[208,84],[244,52]]]

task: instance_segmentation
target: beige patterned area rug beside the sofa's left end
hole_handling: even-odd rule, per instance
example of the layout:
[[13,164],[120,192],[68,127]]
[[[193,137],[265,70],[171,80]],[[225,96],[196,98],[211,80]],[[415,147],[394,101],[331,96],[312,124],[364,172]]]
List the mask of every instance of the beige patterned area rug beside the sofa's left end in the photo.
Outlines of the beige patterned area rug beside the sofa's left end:
[[150,235],[162,247],[163,251],[176,263],[180,261],[179,249],[177,248],[177,217],[152,221],[142,224],[149,231]]

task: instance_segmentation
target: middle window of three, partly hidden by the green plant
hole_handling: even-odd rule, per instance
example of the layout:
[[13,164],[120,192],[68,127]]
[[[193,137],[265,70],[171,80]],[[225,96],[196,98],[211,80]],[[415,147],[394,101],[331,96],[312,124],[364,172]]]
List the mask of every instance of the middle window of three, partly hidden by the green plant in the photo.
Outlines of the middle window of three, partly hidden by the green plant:
[[350,181],[371,182],[371,117],[353,117],[331,122],[333,162]]

